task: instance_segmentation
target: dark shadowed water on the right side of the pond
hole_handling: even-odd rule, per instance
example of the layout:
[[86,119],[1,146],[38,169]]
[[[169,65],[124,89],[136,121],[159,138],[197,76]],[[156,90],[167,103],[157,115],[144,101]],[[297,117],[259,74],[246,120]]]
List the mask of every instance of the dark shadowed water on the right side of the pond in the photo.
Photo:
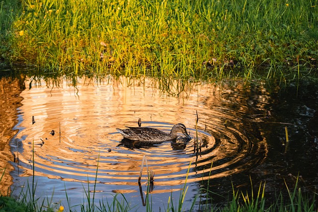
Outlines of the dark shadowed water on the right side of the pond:
[[[250,88],[250,92],[243,95],[242,101],[233,101],[233,108],[239,105],[248,107],[240,117],[237,129],[242,129],[253,142],[253,147],[260,147],[258,142],[266,141],[266,148],[262,149],[264,157],[254,167],[242,171],[229,178],[216,181],[205,181],[209,184],[209,191],[216,194],[226,194],[233,184],[235,189],[254,196],[259,186],[265,183],[265,198],[268,206],[277,201],[282,192],[288,201],[286,187],[290,191],[297,189],[309,195],[310,200],[316,200],[318,186],[318,86],[315,83],[303,81],[297,86],[277,86],[267,95],[260,89]],[[242,95],[239,92],[238,95]],[[236,96],[236,95],[235,95]],[[270,111],[270,116],[262,118],[259,114],[264,111],[259,107],[260,100],[268,97],[269,101],[264,108]],[[266,98],[267,98],[266,97]],[[231,98],[231,97],[228,97]],[[235,112],[236,114],[238,111]],[[286,147],[286,132],[288,130],[289,143]],[[253,152],[253,151],[251,151]],[[256,155],[248,155],[247,160]],[[242,161],[245,162],[244,160]],[[250,179],[249,179],[250,178]],[[251,180],[251,182],[250,182]],[[252,186],[251,186],[252,185]],[[263,188],[263,187],[261,187]],[[316,193],[316,195],[314,195]],[[228,196],[213,196],[214,203],[226,204]],[[317,207],[317,206],[316,206]]]

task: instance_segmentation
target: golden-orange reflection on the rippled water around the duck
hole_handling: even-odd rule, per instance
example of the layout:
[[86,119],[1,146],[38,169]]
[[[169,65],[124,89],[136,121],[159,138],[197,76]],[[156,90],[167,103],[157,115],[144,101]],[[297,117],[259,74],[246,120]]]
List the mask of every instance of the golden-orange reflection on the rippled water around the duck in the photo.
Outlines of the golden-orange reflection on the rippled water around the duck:
[[[36,175],[83,183],[87,183],[87,177],[93,182],[98,161],[98,183],[137,185],[144,155],[155,171],[157,186],[183,184],[187,174],[187,182],[229,176],[255,163],[255,160],[241,162],[250,154],[253,142],[237,127],[239,114],[248,108],[246,104],[237,104],[238,112],[233,114],[229,107],[234,105],[231,98],[245,101],[233,95],[239,85],[235,89],[182,81],[167,85],[162,80],[125,77],[99,83],[83,78],[76,88],[66,82],[58,88],[44,81],[41,84],[21,93],[19,110],[23,121],[15,139],[23,143],[23,152],[19,154],[23,167],[20,176],[32,175],[33,142]],[[265,103],[267,99],[264,97],[262,101]],[[196,111],[200,118],[200,151],[194,149]],[[176,123],[183,123],[192,140],[153,146],[122,143],[122,136],[115,129],[137,127],[139,118],[142,126],[164,132],[169,132]],[[232,125],[226,128],[225,120]],[[50,134],[52,130],[54,136]],[[265,152],[260,153],[259,162],[266,155],[266,147],[256,146],[256,151]],[[211,176],[204,175],[209,171],[213,173]],[[144,170],[143,179],[146,175]]]

